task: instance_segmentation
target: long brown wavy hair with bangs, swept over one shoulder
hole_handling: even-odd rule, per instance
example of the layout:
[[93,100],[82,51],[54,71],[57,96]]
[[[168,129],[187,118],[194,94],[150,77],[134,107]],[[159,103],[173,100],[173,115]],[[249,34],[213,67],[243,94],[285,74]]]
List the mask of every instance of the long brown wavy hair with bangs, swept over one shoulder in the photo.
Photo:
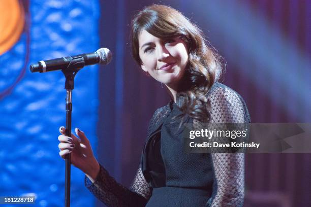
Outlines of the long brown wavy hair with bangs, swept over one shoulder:
[[222,58],[203,38],[203,32],[179,11],[164,5],[151,5],[132,20],[132,53],[141,65],[139,34],[145,29],[160,39],[179,37],[185,41],[189,60],[178,86],[176,103],[183,115],[201,122],[210,120],[208,90],[222,73]]

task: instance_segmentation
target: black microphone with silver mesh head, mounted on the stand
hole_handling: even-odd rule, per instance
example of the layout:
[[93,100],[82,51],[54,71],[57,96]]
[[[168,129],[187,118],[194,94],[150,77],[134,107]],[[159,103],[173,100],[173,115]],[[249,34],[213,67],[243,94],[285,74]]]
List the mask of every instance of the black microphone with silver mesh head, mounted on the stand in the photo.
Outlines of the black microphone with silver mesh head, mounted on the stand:
[[80,59],[78,62],[78,68],[82,68],[84,65],[92,64],[108,64],[112,59],[112,53],[107,48],[100,48],[96,52],[84,53],[75,56],[61,57],[51,60],[41,60],[38,63],[31,64],[29,66],[30,72],[45,73],[49,71],[57,71],[66,69],[73,59]]

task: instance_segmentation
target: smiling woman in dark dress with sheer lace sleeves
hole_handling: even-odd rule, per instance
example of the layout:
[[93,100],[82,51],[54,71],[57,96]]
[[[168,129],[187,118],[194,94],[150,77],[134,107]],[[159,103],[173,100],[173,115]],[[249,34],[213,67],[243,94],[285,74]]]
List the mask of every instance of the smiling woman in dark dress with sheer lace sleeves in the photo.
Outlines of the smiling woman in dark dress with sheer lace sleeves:
[[[59,155],[85,174],[86,187],[108,206],[242,206],[243,154],[186,154],[184,123],[250,122],[243,99],[217,83],[222,64],[198,27],[180,12],[152,5],[132,21],[132,51],[142,70],[165,85],[171,101],[155,111],[130,189],[95,159],[84,132],[60,135]],[[64,134],[64,127],[60,132]]]

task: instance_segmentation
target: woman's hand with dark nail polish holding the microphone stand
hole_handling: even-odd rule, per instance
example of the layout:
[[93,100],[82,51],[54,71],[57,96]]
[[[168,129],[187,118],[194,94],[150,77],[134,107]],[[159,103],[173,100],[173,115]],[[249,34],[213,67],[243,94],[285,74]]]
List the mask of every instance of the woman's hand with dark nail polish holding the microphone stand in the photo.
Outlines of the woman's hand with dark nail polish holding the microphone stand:
[[92,148],[83,131],[75,129],[76,134],[71,137],[65,135],[65,127],[59,128],[61,135],[58,136],[59,156],[65,159],[67,154],[71,154],[71,163],[81,169],[88,178],[95,180],[99,173],[99,163],[94,157]]

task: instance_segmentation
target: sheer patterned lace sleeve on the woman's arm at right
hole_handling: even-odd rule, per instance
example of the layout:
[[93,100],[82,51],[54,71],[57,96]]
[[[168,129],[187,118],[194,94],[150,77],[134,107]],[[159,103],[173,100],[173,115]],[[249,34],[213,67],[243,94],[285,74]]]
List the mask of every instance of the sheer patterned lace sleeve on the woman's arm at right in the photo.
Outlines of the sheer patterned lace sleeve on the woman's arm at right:
[[[242,97],[221,84],[209,95],[212,123],[245,123],[250,116]],[[213,153],[215,182],[207,206],[236,207],[244,200],[244,154]]]

